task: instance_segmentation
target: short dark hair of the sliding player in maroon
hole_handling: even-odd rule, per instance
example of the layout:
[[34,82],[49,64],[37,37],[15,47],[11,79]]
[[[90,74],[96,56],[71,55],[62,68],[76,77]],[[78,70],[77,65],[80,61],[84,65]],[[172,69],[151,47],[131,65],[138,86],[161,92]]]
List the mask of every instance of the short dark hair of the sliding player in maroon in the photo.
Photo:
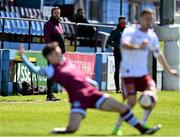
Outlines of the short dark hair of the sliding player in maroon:
[[44,49],[42,50],[43,56],[46,58],[48,55],[50,55],[55,49],[58,47],[58,42],[52,42],[48,43]]

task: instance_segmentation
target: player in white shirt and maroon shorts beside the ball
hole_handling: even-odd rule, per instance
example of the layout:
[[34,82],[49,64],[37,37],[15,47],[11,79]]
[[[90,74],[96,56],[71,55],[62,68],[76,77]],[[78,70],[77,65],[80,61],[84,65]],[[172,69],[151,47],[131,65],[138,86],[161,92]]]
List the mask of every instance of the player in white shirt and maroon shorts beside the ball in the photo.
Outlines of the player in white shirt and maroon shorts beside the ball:
[[[155,32],[151,29],[153,21],[153,12],[143,10],[140,14],[140,24],[126,28],[121,37],[121,77],[122,77],[122,95],[127,99],[128,106],[133,108],[136,104],[137,91],[146,92],[149,90],[156,101],[157,89],[155,82],[148,73],[148,55],[153,53],[154,57],[163,65],[164,69],[171,75],[179,76],[179,72],[172,69],[162,55],[159,46],[159,40]],[[150,108],[144,109],[144,116],[141,124],[147,127],[147,120],[153,110],[153,104]],[[123,118],[119,118],[113,133],[120,135],[121,123]]]

